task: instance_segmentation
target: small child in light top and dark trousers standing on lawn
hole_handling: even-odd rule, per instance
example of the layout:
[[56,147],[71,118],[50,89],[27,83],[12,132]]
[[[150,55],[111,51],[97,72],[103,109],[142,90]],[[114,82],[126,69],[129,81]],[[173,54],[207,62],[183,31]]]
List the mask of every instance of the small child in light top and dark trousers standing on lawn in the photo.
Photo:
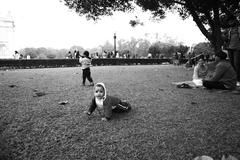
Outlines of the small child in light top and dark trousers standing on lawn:
[[86,78],[90,82],[90,86],[94,86],[93,79],[91,77],[91,61],[92,59],[89,57],[89,52],[84,51],[83,56],[80,56],[79,63],[82,65],[82,85],[85,86]]

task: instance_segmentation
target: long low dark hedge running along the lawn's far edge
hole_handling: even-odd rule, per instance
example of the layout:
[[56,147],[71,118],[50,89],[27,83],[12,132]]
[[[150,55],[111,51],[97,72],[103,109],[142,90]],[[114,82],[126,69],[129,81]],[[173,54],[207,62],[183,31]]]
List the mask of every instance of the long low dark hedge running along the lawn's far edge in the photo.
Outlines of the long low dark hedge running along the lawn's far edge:
[[[92,65],[146,65],[172,63],[171,59],[92,59]],[[76,67],[78,59],[0,59],[1,68],[46,68],[46,67]]]

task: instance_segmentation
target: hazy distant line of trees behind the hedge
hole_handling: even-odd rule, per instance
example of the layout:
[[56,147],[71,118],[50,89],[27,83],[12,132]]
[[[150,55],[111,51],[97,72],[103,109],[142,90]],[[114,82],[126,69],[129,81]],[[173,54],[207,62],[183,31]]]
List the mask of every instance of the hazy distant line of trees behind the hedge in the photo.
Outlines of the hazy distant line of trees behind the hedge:
[[[113,45],[106,41],[103,45],[100,45],[95,48],[84,49],[81,46],[72,46],[70,49],[52,49],[52,48],[24,48],[19,50],[23,55],[23,58],[30,56],[31,59],[65,59],[68,57],[69,53],[73,54],[71,57],[74,57],[74,52],[79,51],[80,54],[84,50],[88,50],[93,58],[102,58],[103,54],[106,52],[113,52]],[[149,53],[151,53],[152,58],[171,58],[176,52],[181,53],[183,56],[186,56],[190,50],[189,46],[182,44],[177,44],[176,42],[161,42],[156,41],[151,43],[146,39],[136,39],[131,38],[131,40],[120,39],[117,41],[117,52],[119,58],[146,58]],[[192,50],[195,54],[201,54],[209,52],[213,54],[213,49],[210,43],[199,43]]]

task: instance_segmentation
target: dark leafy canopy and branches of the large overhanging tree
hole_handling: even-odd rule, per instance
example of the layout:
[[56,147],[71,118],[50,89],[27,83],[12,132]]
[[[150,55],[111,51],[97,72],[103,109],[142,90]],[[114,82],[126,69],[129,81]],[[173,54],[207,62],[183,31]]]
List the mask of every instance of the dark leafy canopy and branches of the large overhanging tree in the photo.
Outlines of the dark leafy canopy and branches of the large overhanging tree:
[[[167,10],[177,11],[183,19],[192,16],[202,34],[215,51],[222,46],[221,29],[227,16],[240,18],[239,0],[61,0],[70,9],[87,19],[98,20],[111,16],[115,11],[131,11],[140,6],[150,11],[154,18],[162,19]],[[177,28],[176,28],[177,29]]]

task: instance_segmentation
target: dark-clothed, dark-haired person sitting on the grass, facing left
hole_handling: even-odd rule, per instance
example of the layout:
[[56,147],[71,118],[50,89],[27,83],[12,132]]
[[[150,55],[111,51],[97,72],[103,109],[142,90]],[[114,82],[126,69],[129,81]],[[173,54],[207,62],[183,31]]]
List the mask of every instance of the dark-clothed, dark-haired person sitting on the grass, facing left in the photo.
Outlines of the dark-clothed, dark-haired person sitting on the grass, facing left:
[[227,54],[223,51],[215,54],[216,69],[210,79],[204,79],[202,81],[204,87],[207,89],[223,90],[233,90],[236,88],[237,75],[226,58]]

